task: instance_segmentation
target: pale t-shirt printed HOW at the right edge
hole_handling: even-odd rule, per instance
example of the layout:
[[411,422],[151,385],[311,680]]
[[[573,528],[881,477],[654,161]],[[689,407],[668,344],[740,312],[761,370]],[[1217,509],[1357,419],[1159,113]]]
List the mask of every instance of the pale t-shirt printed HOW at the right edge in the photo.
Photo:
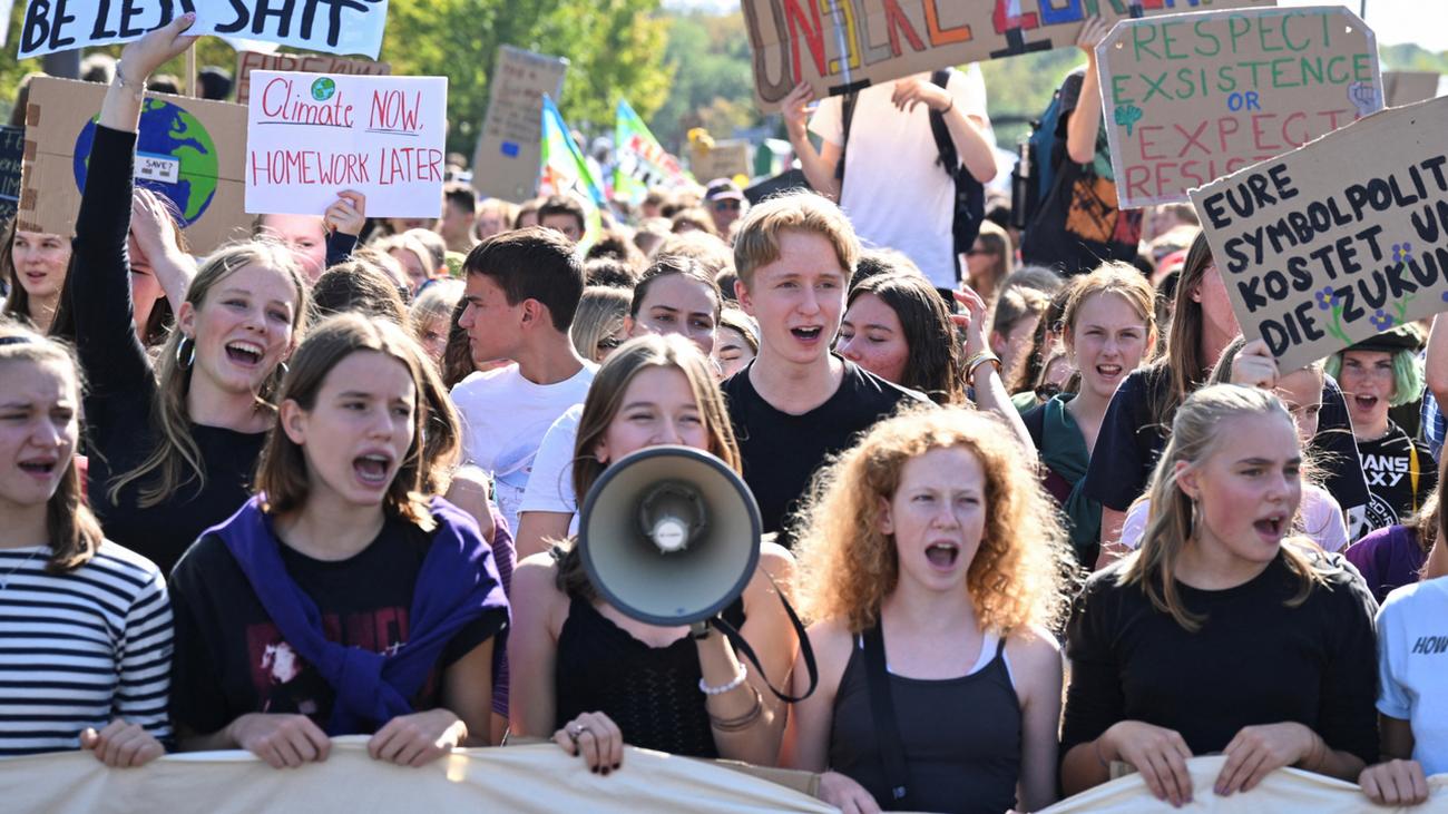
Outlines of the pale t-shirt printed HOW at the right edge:
[[1403,585],[1377,611],[1377,711],[1413,727],[1413,760],[1448,772],[1448,578]]

